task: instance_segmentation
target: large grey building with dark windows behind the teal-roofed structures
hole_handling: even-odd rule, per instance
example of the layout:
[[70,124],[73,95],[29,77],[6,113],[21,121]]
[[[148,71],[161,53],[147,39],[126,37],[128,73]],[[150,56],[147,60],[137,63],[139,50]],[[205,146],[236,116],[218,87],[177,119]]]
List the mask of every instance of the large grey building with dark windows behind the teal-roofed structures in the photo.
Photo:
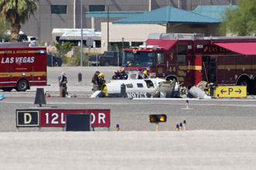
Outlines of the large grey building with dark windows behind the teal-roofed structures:
[[[107,22],[106,18],[86,17],[86,12],[148,12],[165,6],[181,8],[192,11],[198,5],[237,5],[238,0],[40,0],[37,2],[39,9],[29,21],[22,25],[21,30],[27,36],[37,36],[39,41],[53,45],[53,29],[81,29],[81,16],[83,29],[101,29],[101,23]],[[114,22],[123,17],[109,18]],[[93,24],[94,26],[93,26]],[[55,40],[55,39],[54,39]]]

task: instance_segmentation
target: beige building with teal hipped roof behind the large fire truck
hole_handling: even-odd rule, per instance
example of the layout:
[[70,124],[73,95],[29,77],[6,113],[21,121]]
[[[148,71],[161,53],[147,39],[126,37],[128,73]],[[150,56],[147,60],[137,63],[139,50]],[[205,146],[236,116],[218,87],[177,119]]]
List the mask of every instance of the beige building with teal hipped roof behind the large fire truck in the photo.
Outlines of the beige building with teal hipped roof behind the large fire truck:
[[[193,12],[166,6],[158,8],[151,12],[144,12],[140,15],[120,19],[115,22],[102,22],[102,53],[106,50],[116,50],[127,48],[127,44],[134,42],[144,42],[147,40],[149,33],[203,33],[205,36],[216,36],[220,20],[209,18]],[[109,39],[108,32],[109,30]],[[109,42],[109,49],[107,46]],[[115,46],[114,46],[115,47]]]

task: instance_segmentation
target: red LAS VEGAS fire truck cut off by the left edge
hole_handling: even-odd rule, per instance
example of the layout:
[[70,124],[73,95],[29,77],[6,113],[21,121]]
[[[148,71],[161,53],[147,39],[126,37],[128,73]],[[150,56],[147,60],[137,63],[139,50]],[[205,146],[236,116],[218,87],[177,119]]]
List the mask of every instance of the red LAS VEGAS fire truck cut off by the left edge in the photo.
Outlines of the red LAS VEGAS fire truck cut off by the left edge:
[[0,88],[26,91],[47,85],[47,49],[28,42],[0,43]]

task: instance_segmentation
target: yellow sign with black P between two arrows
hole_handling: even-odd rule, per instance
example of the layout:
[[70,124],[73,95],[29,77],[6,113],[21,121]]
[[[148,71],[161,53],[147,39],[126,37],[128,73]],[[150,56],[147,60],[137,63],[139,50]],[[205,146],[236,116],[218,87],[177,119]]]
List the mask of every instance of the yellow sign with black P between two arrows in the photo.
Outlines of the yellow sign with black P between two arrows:
[[246,86],[218,86],[215,97],[247,97]]

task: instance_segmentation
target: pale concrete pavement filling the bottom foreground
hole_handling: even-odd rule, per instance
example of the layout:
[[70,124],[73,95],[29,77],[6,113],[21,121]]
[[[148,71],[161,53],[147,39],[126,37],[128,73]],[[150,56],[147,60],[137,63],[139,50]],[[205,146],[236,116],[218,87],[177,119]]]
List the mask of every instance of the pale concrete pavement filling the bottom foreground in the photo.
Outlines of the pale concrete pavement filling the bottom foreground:
[[254,169],[256,131],[1,133],[0,168]]

